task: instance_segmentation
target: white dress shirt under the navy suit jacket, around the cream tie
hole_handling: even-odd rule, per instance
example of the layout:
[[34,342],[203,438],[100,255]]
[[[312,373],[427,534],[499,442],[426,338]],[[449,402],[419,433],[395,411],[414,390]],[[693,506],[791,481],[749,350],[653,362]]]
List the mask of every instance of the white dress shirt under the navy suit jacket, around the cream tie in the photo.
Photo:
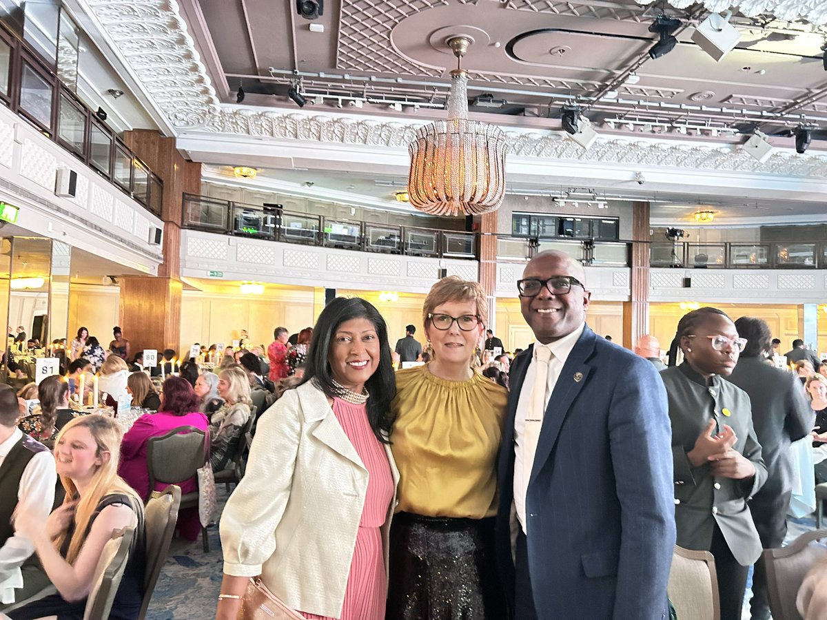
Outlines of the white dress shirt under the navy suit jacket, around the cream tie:
[[[538,347],[545,346],[552,351],[552,359],[548,362],[548,379],[546,382],[546,394],[543,398],[543,407],[548,407],[548,399],[551,398],[554,386],[557,385],[557,377],[560,376],[560,371],[566,363],[571,350],[576,345],[577,341],[586,328],[586,323],[583,323],[571,334],[563,336],[557,341],[549,342],[544,345],[542,342],[535,341],[533,351],[537,351]],[[528,413],[528,403],[531,402],[531,392],[534,387],[534,378],[537,376],[537,365],[535,359],[532,357],[528,368],[525,371],[525,379],[523,379],[523,387],[519,392],[519,399],[517,400],[517,411],[514,414],[514,508],[517,512],[517,519],[520,527],[523,528],[523,533],[526,533],[525,528],[525,494],[528,489],[528,480],[524,479],[523,475],[523,433],[525,432],[525,416]],[[545,420],[545,418],[543,418]]]

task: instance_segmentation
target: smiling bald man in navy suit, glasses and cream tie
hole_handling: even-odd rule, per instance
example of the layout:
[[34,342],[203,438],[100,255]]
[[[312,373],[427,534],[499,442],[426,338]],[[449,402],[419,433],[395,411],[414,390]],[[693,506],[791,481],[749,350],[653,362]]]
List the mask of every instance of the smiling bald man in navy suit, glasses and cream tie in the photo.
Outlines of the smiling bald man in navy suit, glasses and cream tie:
[[662,381],[586,326],[591,293],[569,256],[538,254],[518,289],[536,341],[512,365],[500,451],[497,556],[514,618],[668,618],[675,509]]

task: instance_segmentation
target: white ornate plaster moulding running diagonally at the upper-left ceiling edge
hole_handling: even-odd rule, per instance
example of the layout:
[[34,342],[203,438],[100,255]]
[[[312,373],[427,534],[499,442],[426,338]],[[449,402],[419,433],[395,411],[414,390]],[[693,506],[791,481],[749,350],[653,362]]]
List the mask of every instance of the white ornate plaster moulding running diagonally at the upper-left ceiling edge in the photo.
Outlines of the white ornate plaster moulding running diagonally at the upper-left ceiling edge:
[[194,110],[218,98],[174,0],[80,0],[170,124],[191,126]]

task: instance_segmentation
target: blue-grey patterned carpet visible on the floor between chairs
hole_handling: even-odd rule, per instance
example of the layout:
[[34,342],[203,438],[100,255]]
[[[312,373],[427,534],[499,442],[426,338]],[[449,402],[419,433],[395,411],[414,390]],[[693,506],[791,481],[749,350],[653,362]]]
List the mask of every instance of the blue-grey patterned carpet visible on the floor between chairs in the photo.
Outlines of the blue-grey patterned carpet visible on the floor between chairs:
[[[218,486],[218,510],[224,507],[228,494],[223,485]],[[786,543],[804,532],[815,530],[815,517],[788,520]],[[218,525],[208,528],[209,548],[204,553],[200,539],[195,542],[174,539],[170,546],[170,559],[161,570],[155,594],[152,595],[148,620],[207,620],[214,618],[218,603],[218,591],[222,579],[221,541]],[[750,592],[744,598],[743,619],[749,620]]]

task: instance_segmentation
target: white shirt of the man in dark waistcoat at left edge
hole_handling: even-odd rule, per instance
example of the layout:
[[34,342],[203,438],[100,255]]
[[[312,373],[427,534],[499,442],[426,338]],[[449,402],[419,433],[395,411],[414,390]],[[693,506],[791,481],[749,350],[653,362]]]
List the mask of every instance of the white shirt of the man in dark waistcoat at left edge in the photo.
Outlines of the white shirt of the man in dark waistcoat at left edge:
[[[0,443],[0,465],[22,436],[22,431],[16,428],[12,436]],[[41,511],[45,519],[55,502],[56,482],[55,457],[50,451],[36,453],[23,470],[17,488],[18,505]],[[35,546],[31,541],[17,532],[0,547],[0,603],[14,603],[14,589],[23,587],[20,566],[34,552]]]

